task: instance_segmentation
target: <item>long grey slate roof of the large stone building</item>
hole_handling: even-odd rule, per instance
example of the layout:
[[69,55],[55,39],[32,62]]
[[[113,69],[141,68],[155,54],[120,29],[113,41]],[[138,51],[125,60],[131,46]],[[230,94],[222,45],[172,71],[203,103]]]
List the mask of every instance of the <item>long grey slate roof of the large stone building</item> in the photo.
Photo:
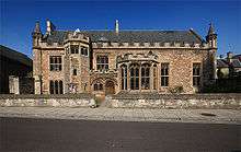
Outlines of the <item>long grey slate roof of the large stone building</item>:
[[[65,37],[72,31],[54,31],[44,38],[47,43],[64,43]],[[91,42],[116,43],[195,43],[204,39],[194,31],[80,31],[79,33],[91,38]]]

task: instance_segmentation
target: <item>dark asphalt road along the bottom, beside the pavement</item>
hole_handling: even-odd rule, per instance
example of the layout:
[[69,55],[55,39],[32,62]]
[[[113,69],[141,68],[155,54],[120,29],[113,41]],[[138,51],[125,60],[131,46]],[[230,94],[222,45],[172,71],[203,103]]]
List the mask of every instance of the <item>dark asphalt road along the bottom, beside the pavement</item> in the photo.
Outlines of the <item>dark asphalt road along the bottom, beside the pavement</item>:
[[238,152],[241,126],[0,118],[0,152]]

